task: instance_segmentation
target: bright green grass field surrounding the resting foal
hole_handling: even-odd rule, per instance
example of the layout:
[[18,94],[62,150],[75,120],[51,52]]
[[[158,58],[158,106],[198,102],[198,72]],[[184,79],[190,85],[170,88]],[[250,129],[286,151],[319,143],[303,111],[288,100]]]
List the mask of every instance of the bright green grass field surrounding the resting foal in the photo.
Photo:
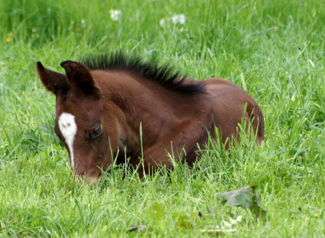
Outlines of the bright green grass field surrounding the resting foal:
[[[325,237],[324,22],[313,0],[1,0],[0,236]],[[63,72],[63,60],[114,50],[236,83],[261,106],[265,141],[216,145],[170,175],[115,168],[97,187],[76,183],[35,64]],[[248,184],[265,219],[215,195]],[[207,231],[239,216],[232,232]]]

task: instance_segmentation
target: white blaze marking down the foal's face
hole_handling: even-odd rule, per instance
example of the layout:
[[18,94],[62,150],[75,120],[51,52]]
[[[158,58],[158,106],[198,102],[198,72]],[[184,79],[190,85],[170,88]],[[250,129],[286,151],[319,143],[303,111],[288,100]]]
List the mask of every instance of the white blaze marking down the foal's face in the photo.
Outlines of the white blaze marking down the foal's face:
[[75,116],[73,114],[62,112],[59,117],[59,129],[66,140],[66,143],[69,147],[70,158],[71,158],[71,166],[73,172],[75,172],[75,163],[74,163],[74,153],[73,153],[73,142],[75,140],[75,135],[77,133],[77,124],[75,121]]

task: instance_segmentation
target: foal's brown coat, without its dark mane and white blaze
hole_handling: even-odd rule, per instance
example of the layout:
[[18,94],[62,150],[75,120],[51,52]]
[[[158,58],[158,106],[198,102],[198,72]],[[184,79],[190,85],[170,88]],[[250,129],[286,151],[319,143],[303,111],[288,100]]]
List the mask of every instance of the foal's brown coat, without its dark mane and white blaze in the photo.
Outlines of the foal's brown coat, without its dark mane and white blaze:
[[[73,61],[64,61],[61,66],[66,75],[46,69],[40,62],[37,72],[45,87],[56,95],[55,132],[67,148],[58,128],[58,117],[62,112],[75,116],[78,130],[73,142],[74,172],[85,175],[86,181],[95,182],[101,176],[101,168],[106,170],[111,165],[111,154],[115,156],[117,150],[122,155],[120,162],[124,162],[126,149],[130,163],[139,164],[140,124],[144,158],[140,173],[161,165],[171,168],[168,153],[173,152],[177,157],[182,148],[186,152],[183,159],[191,165],[197,158],[197,143],[207,142],[206,129],[215,135],[214,125],[222,131],[223,141],[236,136],[246,103],[244,116],[247,121],[252,120],[257,143],[264,139],[261,109],[229,81],[209,78],[200,83],[186,79],[183,85],[203,84],[204,88],[202,92],[182,93],[137,72],[90,70]],[[98,125],[102,125],[102,132],[92,138],[89,135]]]

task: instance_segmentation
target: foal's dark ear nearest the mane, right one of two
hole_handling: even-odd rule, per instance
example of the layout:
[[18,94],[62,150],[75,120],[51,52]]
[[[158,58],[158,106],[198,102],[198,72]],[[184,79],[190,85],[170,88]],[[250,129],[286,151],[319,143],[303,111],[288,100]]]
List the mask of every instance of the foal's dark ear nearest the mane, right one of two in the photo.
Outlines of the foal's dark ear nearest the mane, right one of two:
[[71,85],[81,89],[85,94],[100,95],[98,85],[85,65],[70,60],[63,61],[60,65],[66,70],[66,75]]

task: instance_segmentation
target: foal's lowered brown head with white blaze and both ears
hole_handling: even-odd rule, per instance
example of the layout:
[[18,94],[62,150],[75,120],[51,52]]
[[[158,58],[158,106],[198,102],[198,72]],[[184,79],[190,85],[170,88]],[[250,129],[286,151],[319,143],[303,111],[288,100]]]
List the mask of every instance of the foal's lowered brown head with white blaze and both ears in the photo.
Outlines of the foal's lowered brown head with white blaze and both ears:
[[56,96],[55,133],[66,146],[72,171],[95,183],[101,169],[111,164],[107,130],[102,124],[101,90],[88,68],[64,61],[66,74],[45,68],[36,69],[45,88]]

